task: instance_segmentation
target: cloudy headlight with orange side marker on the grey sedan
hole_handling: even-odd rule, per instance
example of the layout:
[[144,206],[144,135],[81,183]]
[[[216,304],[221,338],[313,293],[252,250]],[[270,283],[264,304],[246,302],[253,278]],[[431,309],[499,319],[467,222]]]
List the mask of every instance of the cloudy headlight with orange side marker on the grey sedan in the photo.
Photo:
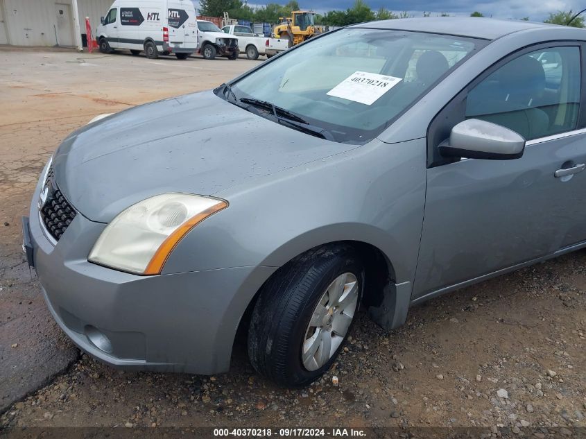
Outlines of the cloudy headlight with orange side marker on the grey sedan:
[[178,242],[225,200],[165,193],[128,207],[107,225],[88,261],[141,275],[158,275]]

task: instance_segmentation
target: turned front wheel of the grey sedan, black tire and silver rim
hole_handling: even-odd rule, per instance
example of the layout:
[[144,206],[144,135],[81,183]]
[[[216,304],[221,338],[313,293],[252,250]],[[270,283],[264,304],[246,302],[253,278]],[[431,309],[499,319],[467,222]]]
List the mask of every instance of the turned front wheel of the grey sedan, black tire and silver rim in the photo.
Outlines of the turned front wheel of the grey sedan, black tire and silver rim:
[[248,355],[255,370],[286,387],[326,372],[354,322],[363,273],[347,245],[310,250],[279,269],[252,311]]

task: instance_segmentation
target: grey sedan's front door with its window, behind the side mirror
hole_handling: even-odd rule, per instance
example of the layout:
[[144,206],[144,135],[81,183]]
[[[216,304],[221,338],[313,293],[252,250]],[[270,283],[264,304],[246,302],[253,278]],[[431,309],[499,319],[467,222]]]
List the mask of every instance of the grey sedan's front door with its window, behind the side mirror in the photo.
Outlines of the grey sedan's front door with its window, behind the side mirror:
[[436,117],[460,111],[528,141],[517,160],[429,166],[414,299],[586,240],[580,86],[580,46],[549,44],[511,55]]

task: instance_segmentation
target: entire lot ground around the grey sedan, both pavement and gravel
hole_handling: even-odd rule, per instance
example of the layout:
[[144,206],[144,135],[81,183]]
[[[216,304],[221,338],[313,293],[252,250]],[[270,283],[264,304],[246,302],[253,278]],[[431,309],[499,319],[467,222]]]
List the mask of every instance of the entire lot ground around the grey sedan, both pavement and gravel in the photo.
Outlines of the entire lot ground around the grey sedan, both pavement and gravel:
[[586,251],[431,300],[391,334],[361,315],[339,361],[301,390],[255,375],[243,343],[230,373],[201,377],[114,370],[62,336],[19,248],[19,218],[49,154],[96,114],[214,87],[257,62],[0,52],[0,429],[483,427],[576,437],[586,427]]

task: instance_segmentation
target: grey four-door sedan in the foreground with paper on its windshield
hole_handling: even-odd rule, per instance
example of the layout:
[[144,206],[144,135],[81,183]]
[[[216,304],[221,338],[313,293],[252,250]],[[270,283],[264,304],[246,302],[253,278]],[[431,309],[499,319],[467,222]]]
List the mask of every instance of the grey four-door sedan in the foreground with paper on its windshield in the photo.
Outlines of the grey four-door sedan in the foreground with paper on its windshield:
[[24,250],[55,320],[111,365],[303,386],[362,308],[586,245],[586,31],[396,19],[64,139]]

